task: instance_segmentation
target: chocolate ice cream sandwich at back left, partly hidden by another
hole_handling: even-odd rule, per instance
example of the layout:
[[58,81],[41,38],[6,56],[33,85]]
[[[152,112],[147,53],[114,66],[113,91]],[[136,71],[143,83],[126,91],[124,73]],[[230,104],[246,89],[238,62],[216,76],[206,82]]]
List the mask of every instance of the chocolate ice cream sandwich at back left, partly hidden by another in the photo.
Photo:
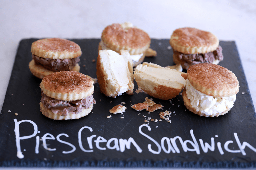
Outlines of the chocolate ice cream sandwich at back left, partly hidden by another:
[[58,71],[78,71],[81,48],[73,41],[60,38],[37,40],[31,45],[29,69],[40,79]]

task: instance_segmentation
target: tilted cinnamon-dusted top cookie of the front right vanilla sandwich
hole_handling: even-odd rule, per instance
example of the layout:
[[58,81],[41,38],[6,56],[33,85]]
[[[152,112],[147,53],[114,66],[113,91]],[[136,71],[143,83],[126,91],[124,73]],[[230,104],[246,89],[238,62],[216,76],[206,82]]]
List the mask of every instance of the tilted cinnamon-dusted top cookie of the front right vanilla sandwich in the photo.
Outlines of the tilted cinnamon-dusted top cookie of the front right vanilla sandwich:
[[191,85],[206,95],[225,97],[239,92],[236,75],[216,64],[193,65],[188,68],[187,76]]

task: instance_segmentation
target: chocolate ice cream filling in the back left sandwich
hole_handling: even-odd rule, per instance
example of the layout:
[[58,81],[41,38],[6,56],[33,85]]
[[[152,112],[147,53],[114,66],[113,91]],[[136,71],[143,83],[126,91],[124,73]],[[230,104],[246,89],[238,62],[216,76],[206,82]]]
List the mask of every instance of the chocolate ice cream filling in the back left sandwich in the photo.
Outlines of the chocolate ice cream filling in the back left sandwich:
[[80,61],[80,58],[65,58],[65,59],[50,59],[42,58],[32,54],[32,58],[35,60],[35,64],[42,65],[48,70],[54,72],[58,71],[71,71],[74,66]]

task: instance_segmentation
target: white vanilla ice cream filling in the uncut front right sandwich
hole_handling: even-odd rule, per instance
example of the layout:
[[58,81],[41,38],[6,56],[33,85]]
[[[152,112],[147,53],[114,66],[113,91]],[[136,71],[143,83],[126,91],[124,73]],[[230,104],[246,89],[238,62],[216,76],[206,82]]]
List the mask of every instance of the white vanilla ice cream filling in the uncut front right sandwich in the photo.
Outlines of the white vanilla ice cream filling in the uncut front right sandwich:
[[186,93],[190,104],[196,111],[200,111],[205,115],[214,115],[222,113],[226,110],[226,107],[230,109],[236,101],[236,94],[226,97],[214,97],[209,96],[196,90],[187,79]]

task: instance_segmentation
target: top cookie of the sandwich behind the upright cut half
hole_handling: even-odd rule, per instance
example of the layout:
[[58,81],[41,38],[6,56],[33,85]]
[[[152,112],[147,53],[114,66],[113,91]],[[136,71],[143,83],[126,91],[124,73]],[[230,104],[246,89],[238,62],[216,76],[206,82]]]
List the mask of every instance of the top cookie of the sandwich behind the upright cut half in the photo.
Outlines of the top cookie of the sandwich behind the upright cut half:
[[107,26],[102,32],[101,39],[111,50],[117,53],[120,50],[128,50],[131,55],[145,52],[150,47],[151,42],[145,31],[119,23]]

